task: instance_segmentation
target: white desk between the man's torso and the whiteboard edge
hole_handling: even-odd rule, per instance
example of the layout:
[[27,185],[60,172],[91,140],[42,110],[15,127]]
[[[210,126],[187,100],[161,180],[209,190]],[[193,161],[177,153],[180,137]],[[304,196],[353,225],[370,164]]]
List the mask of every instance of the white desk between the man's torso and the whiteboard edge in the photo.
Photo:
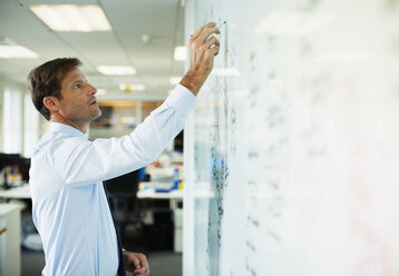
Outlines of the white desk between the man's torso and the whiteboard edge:
[[[148,183],[146,184],[146,186]],[[183,190],[171,190],[169,193],[155,193],[148,188],[137,191],[140,199],[168,199],[174,218],[174,250],[181,253],[183,249],[183,209],[178,208],[178,203],[183,201]]]

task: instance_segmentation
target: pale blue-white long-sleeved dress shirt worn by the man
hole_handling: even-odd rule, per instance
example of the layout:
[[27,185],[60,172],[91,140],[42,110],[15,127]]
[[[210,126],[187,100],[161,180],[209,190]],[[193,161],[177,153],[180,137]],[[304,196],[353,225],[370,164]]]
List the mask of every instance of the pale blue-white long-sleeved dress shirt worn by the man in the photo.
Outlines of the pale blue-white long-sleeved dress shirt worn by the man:
[[50,122],[30,168],[33,223],[46,255],[42,275],[116,275],[117,239],[103,180],[156,160],[194,106],[195,96],[178,85],[130,135],[94,141]]

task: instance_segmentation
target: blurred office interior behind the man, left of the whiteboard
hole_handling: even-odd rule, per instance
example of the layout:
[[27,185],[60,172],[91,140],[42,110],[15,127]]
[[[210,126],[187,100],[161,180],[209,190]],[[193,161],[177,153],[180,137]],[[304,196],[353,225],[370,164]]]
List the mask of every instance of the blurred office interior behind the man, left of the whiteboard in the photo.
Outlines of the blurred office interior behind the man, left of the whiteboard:
[[[185,71],[184,8],[181,0],[0,1],[0,275],[39,275],[45,265],[28,170],[48,124],[26,87],[30,70],[79,58],[103,110],[87,137],[129,134]],[[106,181],[123,246],[146,254],[153,275],[182,275],[183,137],[154,164]]]

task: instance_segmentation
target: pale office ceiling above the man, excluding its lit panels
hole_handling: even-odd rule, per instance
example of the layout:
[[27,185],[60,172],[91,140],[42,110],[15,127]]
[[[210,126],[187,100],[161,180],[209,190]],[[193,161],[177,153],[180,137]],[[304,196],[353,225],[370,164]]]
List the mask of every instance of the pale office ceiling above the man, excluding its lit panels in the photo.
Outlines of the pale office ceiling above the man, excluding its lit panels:
[[[97,4],[111,31],[59,32],[48,28],[31,4]],[[143,36],[149,36],[145,42]],[[174,48],[184,45],[184,7],[179,0],[0,0],[0,40],[8,38],[36,53],[36,59],[0,58],[0,77],[25,83],[31,69],[59,57],[77,57],[82,72],[106,98],[162,98],[172,89],[169,78],[182,76],[184,61]],[[109,77],[97,66],[133,66],[137,73]],[[119,83],[143,83],[144,92],[118,90]],[[99,96],[100,97],[100,96]]]

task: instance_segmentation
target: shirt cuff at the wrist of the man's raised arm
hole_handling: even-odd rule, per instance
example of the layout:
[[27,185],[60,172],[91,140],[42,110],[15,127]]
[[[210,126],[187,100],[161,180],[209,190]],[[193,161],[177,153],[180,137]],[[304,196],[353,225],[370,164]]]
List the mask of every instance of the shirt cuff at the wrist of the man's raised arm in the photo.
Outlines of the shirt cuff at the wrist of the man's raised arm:
[[181,115],[188,117],[189,111],[195,107],[196,97],[184,86],[177,85],[165,100],[165,103],[174,106]]

